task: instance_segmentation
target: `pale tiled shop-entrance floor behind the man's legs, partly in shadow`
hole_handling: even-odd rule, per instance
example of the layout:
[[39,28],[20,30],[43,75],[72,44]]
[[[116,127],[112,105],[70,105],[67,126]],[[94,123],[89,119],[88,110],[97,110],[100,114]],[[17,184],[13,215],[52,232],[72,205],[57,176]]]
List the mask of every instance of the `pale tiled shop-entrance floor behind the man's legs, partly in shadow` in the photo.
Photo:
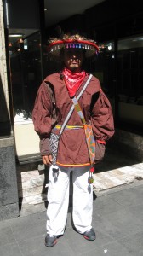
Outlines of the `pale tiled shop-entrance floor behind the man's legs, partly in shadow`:
[[[138,162],[123,152],[106,148],[105,159],[95,166],[94,192],[99,196],[109,189],[120,188],[142,179],[142,162]],[[27,171],[24,167],[22,169],[22,166],[18,169],[19,196],[23,198],[21,215],[45,208],[46,183],[48,183],[48,170],[39,172],[36,168]]]

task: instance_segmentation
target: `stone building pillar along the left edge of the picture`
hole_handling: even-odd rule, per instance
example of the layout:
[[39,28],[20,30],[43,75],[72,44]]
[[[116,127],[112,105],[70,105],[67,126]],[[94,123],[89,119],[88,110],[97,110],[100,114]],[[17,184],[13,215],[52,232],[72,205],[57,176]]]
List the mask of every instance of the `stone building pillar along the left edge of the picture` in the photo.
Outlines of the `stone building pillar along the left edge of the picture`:
[[5,33],[3,3],[0,1],[0,219],[14,218],[20,214]]

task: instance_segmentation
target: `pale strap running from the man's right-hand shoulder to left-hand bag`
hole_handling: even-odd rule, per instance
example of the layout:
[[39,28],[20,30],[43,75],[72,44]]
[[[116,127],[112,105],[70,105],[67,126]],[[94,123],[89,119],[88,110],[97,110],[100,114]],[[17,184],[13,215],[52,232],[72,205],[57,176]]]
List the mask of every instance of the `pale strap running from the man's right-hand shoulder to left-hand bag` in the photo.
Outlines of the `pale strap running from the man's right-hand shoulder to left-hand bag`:
[[[78,96],[77,96],[77,100],[79,100],[80,97],[82,96],[83,91],[84,91],[84,90],[86,89],[86,87],[88,86],[89,81],[90,81],[90,79],[92,78],[92,76],[93,76],[92,74],[89,75],[89,78],[87,79],[86,83],[84,84],[83,89],[80,91],[80,93],[79,93]],[[70,119],[74,108],[75,108],[75,106],[74,106],[74,104],[73,104],[73,105],[72,105],[72,108],[70,109],[69,113],[68,113],[67,116],[66,116],[66,119],[65,119],[63,125],[61,126],[60,135],[61,135],[61,133],[64,131],[65,126],[66,126],[68,120]]]

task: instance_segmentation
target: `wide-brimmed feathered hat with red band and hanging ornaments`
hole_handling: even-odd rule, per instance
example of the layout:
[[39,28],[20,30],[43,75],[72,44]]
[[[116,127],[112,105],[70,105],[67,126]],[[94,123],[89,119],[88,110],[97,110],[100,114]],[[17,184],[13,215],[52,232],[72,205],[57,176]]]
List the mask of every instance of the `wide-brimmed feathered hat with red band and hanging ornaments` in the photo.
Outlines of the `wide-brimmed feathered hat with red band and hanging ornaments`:
[[60,49],[84,49],[85,58],[88,59],[92,59],[99,52],[99,47],[94,40],[84,38],[78,34],[72,36],[64,35],[61,39],[50,38],[49,54],[58,59],[60,57]]

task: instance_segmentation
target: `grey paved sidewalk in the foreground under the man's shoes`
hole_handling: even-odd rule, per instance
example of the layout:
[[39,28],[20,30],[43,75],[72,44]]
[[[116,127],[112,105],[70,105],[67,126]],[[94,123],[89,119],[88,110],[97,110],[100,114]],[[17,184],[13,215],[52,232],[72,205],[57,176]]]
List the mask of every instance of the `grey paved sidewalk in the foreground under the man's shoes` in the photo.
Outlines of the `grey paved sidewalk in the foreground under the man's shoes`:
[[44,246],[46,210],[0,221],[1,256],[142,256],[143,181],[103,194],[94,193],[95,241],[72,228],[71,208],[65,235],[54,247]]

